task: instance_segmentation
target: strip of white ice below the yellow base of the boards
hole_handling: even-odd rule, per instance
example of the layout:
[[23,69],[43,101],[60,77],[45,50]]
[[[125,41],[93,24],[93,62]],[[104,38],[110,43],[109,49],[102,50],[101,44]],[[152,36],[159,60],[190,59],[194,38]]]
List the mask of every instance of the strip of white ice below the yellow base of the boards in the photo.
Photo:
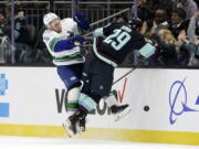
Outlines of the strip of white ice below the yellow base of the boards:
[[0,149],[199,149],[199,146],[1,136]]

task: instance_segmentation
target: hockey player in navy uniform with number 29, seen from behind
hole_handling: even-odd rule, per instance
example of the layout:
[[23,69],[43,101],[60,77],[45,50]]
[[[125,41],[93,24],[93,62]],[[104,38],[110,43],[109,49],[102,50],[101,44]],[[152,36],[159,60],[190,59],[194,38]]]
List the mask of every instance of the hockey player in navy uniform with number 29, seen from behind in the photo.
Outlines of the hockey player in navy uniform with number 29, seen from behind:
[[[78,123],[95,109],[101,98],[108,96],[115,67],[123,63],[126,55],[138,50],[142,57],[155,54],[155,47],[145,38],[135,32],[135,20],[114,22],[104,28],[96,29],[94,38],[103,38],[103,42],[93,44],[93,53],[86,57],[83,70],[84,85],[78,97],[78,110],[67,119],[67,134],[78,134]],[[106,100],[106,99],[105,99]],[[117,110],[115,103],[106,100],[112,111]]]

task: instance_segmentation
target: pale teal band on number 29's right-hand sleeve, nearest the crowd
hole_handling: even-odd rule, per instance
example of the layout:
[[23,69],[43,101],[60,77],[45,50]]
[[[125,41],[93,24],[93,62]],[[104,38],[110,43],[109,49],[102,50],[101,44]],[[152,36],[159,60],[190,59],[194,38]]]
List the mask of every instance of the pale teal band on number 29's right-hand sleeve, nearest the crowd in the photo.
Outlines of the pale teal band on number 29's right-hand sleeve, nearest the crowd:
[[156,47],[150,43],[146,43],[138,52],[144,58],[148,58],[155,55]]

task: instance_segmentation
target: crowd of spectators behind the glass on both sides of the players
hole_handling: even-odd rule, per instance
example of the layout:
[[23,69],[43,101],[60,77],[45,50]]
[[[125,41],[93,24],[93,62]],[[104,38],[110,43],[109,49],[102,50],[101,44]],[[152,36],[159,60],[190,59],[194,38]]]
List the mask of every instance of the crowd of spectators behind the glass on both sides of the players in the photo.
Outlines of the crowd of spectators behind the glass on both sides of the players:
[[[198,2],[198,0],[138,0],[137,14],[132,14],[140,19],[137,31],[157,47],[157,54],[151,60],[145,61],[144,65],[199,66]],[[133,6],[132,10],[134,9]],[[11,38],[10,17],[11,4],[8,3],[4,11],[0,12],[0,36]],[[36,32],[36,26],[27,24],[27,19],[22,6],[15,3],[15,63],[51,63],[51,56],[41,39],[43,26],[39,26],[41,31]],[[121,20],[127,22],[128,18],[121,14],[117,21]],[[139,63],[136,54],[136,51],[133,52],[125,64]]]

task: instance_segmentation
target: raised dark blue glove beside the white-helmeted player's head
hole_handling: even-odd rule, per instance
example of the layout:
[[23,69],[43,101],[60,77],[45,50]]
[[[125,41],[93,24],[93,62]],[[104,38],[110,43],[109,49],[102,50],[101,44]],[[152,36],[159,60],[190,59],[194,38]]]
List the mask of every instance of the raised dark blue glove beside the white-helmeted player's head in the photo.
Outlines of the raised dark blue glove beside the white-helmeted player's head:
[[81,29],[83,30],[90,29],[90,22],[83,12],[76,12],[73,19]]

